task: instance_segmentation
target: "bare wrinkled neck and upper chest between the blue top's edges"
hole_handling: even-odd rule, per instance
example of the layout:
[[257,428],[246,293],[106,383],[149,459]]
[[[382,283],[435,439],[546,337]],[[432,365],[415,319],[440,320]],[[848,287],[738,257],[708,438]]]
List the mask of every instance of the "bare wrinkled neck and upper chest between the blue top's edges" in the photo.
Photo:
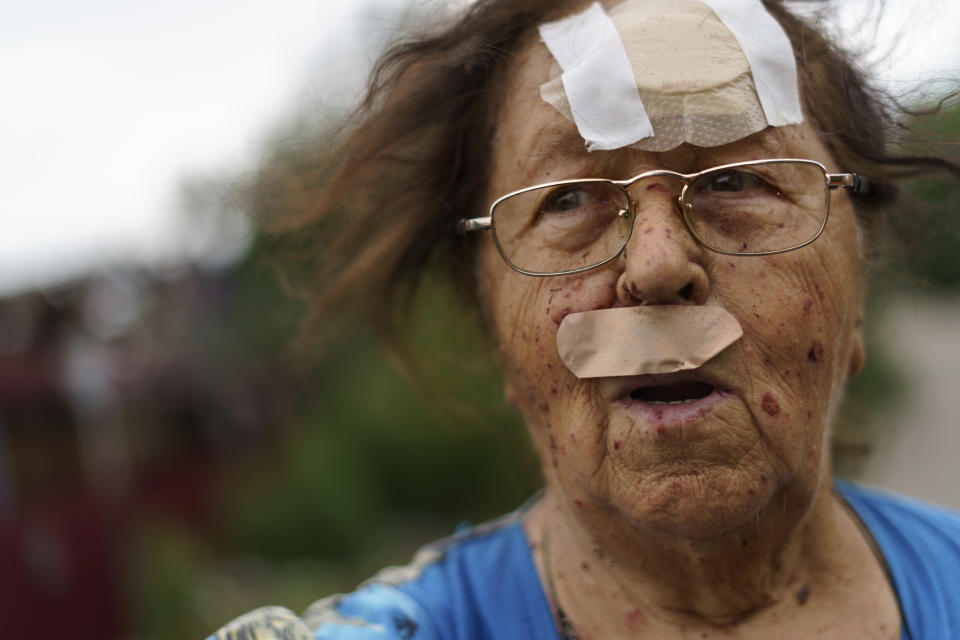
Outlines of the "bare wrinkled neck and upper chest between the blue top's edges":
[[[525,528],[547,597],[581,640],[899,637],[882,570],[829,473],[806,504],[786,487],[704,539],[585,509],[550,484]],[[867,632],[857,623],[871,615]]]

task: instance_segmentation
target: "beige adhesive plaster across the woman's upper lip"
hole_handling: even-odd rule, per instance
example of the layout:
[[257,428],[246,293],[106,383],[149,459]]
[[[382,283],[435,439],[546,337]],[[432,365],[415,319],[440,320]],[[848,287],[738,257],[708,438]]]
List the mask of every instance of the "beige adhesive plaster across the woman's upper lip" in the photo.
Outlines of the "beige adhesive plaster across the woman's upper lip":
[[720,307],[617,307],[567,315],[557,350],[578,378],[634,376],[696,369],[741,336]]

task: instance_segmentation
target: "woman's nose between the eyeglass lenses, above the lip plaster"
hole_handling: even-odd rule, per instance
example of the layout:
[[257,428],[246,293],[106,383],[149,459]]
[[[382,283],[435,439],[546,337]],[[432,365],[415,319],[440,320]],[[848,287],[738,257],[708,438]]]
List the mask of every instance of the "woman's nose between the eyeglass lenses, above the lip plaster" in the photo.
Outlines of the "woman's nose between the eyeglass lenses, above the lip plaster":
[[662,182],[635,185],[633,235],[623,249],[625,263],[617,282],[617,302],[704,304],[710,293],[702,264],[704,249],[690,235],[673,189]]

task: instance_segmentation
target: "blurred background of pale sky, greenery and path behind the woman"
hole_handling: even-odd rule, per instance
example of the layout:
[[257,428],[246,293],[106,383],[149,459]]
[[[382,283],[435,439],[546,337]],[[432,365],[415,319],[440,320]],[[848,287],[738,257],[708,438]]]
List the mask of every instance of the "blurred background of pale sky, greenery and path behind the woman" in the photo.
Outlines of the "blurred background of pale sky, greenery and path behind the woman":
[[[298,353],[302,309],[236,189],[321,140],[385,42],[465,2],[0,0],[5,635],[200,639],[350,589],[536,490],[472,316],[439,287],[415,305],[442,389],[364,327],[322,360]],[[912,104],[956,89],[956,3],[827,17]],[[904,122],[960,154],[957,109]],[[837,466],[960,508],[960,191],[907,189],[924,204],[871,276]]]

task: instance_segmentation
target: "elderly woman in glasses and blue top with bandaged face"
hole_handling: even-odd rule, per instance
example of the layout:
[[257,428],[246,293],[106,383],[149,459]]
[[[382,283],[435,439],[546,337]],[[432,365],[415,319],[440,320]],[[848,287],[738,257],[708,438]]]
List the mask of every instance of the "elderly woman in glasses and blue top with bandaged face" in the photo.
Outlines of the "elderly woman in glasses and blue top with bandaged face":
[[308,194],[320,308],[389,322],[444,265],[545,490],[218,637],[960,637],[960,519],[831,476],[871,230],[943,163],[890,154],[823,35],[776,0],[480,0],[364,107]]

